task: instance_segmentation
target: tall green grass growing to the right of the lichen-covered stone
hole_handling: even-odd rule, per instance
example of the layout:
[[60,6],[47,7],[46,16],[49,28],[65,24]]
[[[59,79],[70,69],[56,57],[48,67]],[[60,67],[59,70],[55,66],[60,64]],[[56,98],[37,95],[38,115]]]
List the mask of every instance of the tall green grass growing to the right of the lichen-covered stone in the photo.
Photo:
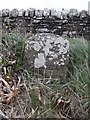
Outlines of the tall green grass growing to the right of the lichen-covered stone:
[[79,117],[89,117],[89,66],[88,66],[88,41],[84,38],[69,39],[69,71],[68,71],[68,88],[71,89],[72,95],[76,95],[79,106],[77,112]]

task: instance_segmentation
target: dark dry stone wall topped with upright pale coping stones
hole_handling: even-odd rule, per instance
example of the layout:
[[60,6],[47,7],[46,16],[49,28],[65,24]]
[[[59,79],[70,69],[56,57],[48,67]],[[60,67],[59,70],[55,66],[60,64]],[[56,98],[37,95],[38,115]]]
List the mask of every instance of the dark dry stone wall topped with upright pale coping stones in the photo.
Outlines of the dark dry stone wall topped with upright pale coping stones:
[[90,15],[85,10],[4,9],[0,11],[0,17],[4,32],[18,30],[23,33],[54,33],[70,37],[84,36],[87,39],[90,36]]

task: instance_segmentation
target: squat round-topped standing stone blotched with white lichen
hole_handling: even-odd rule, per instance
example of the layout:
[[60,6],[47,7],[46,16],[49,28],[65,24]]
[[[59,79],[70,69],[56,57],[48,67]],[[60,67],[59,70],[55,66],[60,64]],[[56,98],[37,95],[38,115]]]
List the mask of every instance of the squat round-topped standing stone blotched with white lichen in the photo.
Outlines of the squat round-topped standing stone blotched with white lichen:
[[59,35],[40,33],[26,40],[25,67],[46,78],[65,79],[69,42]]

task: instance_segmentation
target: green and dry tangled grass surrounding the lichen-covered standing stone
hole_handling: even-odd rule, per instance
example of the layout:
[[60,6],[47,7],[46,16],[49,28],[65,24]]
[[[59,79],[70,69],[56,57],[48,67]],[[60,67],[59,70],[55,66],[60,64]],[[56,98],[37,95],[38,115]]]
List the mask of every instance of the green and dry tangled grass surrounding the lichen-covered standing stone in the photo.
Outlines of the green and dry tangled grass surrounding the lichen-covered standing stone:
[[31,71],[23,68],[25,36],[19,33],[3,35],[2,77],[10,87],[11,83],[15,85],[18,78],[21,79],[13,102],[1,102],[1,110],[8,117],[88,118],[88,42],[83,38],[67,39],[70,42],[68,75],[67,82],[61,84],[52,78],[37,80]]

